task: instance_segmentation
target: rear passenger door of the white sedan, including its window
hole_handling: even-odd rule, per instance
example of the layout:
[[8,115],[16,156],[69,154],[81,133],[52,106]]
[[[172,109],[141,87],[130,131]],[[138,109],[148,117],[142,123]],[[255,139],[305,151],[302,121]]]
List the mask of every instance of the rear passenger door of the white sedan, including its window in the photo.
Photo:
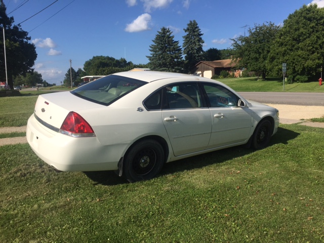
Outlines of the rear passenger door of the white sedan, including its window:
[[203,103],[196,83],[164,88],[163,124],[175,156],[207,148],[212,130],[210,110]]

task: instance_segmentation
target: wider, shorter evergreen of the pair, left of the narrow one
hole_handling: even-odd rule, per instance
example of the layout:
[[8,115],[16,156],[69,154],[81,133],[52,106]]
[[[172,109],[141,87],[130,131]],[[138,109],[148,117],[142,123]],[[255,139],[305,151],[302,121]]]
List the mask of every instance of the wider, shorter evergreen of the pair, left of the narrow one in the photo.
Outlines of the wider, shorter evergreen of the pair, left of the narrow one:
[[162,27],[157,31],[149,51],[151,56],[146,56],[150,61],[149,68],[156,71],[181,72],[182,71],[182,51],[179,41],[174,40],[172,31]]

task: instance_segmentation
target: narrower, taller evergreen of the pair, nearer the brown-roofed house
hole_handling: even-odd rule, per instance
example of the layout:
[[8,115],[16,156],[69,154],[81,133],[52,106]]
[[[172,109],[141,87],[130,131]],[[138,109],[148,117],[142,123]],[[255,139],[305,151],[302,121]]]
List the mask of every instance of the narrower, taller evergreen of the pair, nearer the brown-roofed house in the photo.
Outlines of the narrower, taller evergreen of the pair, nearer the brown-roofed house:
[[191,69],[203,58],[203,44],[205,43],[203,33],[195,20],[187,24],[183,29],[187,34],[183,36],[183,54],[185,55],[184,68],[185,72],[190,73]]

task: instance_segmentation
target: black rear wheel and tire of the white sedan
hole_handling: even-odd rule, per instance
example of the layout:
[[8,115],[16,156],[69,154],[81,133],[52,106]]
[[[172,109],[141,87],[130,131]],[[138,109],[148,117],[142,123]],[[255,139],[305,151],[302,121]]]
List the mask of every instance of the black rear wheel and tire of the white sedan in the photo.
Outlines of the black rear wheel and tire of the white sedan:
[[129,182],[152,179],[164,164],[163,147],[155,140],[136,143],[124,159],[124,175]]

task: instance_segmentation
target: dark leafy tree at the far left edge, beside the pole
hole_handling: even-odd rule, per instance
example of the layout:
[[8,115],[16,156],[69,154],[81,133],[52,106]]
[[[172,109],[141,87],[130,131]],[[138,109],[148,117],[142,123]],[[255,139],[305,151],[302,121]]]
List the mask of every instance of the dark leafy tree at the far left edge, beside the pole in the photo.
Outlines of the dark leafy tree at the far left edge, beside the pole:
[[[6,59],[8,85],[13,89],[13,77],[26,74],[31,70],[37,58],[34,44],[28,43],[28,32],[21,29],[20,25],[13,25],[14,18],[6,14],[6,6],[1,0],[0,6],[0,36],[4,36],[6,44]],[[3,38],[0,38],[0,79],[6,79],[5,50]]]

